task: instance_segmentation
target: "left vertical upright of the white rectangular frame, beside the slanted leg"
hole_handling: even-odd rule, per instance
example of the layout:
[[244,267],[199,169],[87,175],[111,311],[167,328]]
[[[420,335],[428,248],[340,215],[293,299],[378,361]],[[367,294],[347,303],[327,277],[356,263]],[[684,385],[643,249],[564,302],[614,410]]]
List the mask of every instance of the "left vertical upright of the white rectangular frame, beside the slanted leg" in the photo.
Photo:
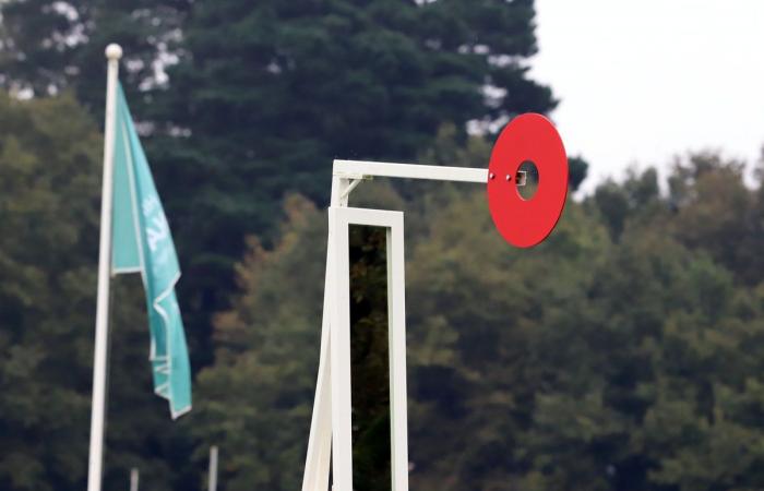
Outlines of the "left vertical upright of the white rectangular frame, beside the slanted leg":
[[[344,208],[347,209],[347,208]],[[330,350],[332,381],[333,490],[353,491],[353,431],[350,400],[350,265],[347,220],[330,207],[332,230],[332,310]]]

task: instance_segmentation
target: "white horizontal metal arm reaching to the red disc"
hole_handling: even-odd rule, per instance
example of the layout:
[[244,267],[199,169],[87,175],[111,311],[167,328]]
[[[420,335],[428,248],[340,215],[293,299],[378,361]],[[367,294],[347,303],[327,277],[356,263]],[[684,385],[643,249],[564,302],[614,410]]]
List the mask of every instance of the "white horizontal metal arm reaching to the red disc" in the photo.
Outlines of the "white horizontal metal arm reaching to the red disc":
[[488,169],[474,167],[420,166],[386,161],[334,160],[334,176],[348,179],[366,177],[394,177],[405,179],[431,179],[435,181],[488,182]]

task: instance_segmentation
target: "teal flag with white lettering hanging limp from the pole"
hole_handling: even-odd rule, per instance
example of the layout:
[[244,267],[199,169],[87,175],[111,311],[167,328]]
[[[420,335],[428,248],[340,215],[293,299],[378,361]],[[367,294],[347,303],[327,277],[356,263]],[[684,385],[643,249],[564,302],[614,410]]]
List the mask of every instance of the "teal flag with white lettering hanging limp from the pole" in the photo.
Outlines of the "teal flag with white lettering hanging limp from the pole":
[[172,418],[191,409],[191,368],[175,296],[178,256],[121,85],[114,159],[112,273],[141,273],[146,292],[154,392]]

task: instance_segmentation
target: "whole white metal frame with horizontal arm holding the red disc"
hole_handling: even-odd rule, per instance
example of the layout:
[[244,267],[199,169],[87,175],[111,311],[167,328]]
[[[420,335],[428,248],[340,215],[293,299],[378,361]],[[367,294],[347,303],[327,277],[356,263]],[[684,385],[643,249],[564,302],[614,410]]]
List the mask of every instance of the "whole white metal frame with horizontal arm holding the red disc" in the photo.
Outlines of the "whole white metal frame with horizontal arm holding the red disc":
[[403,212],[347,207],[353,190],[363,180],[373,177],[485,184],[488,181],[488,170],[362,160],[334,161],[332,200],[329,208],[321,358],[302,491],[326,491],[330,462],[334,477],[333,491],[353,491],[348,256],[350,224],[387,229],[392,487],[393,491],[408,491]]

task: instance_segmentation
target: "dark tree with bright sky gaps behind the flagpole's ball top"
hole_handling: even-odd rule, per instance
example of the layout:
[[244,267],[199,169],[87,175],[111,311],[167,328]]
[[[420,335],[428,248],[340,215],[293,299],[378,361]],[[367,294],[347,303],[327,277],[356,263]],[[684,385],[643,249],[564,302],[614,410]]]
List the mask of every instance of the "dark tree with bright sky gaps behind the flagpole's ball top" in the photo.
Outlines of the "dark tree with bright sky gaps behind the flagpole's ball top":
[[10,0],[0,4],[0,86],[37,96],[70,87],[96,115],[106,87],[104,49],[124,49],[131,92],[162,84],[191,1]]

